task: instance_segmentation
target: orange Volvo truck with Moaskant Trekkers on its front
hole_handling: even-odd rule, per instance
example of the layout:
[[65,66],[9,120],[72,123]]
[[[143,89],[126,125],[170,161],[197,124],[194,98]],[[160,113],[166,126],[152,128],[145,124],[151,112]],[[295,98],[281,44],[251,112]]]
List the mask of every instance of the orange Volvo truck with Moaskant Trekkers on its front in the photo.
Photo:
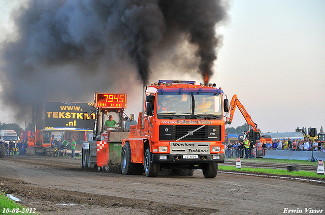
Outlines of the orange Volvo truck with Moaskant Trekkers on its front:
[[228,103],[216,84],[159,80],[143,86],[138,124],[122,141],[122,173],[156,177],[162,168],[176,175],[202,169],[205,178],[215,178],[224,162]]

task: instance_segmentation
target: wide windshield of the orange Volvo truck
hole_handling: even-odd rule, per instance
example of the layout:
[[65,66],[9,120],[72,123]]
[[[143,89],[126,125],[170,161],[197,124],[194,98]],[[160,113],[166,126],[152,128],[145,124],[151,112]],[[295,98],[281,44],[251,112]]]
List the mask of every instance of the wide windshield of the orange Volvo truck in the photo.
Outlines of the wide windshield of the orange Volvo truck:
[[215,93],[163,93],[157,98],[159,115],[222,115],[221,95]]

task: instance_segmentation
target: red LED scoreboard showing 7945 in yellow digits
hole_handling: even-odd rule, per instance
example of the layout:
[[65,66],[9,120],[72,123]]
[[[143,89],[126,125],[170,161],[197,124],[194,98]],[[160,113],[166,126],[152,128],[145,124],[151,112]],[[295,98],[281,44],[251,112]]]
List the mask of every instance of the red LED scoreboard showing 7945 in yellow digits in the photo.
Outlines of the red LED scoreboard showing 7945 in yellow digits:
[[126,94],[95,93],[95,107],[126,108]]

